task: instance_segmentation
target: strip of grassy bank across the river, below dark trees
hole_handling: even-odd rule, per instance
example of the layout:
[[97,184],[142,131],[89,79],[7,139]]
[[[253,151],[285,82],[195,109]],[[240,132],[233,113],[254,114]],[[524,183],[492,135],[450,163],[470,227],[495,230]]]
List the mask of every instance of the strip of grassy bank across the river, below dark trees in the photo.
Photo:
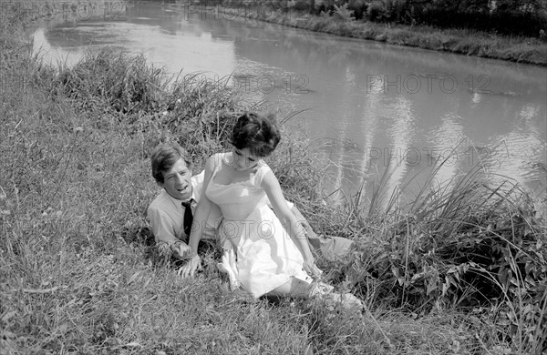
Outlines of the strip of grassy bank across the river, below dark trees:
[[511,62],[547,66],[547,41],[538,37],[497,35],[465,29],[438,29],[428,25],[391,25],[358,21],[344,9],[335,15],[309,15],[295,10],[214,7],[224,17],[242,16],[279,25],[290,25],[316,32],[344,35],[414,46],[465,56],[502,59]]

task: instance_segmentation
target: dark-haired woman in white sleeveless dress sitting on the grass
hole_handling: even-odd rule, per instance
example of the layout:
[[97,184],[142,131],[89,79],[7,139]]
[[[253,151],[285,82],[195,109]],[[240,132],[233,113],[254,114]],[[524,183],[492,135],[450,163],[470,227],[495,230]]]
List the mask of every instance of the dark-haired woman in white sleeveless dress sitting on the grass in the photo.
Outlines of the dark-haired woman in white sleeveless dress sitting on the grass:
[[[346,303],[351,294],[333,294],[319,279],[321,270],[305,238],[304,228],[288,208],[279,181],[263,161],[281,139],[274,117],[246,113],[232,130],[232,151],[207,160],[200,204],[191,228],[191,260],[182,275],[191,275],[200,262],[197,246],[202,221],[212,203],[224,217],[220,234],[236,254],[235,274],[243,289],[260,296],[310,298],[331,295]],[[266,204],[270,200],[274,210]],[[225,259],[224,259],[225,261]]]

